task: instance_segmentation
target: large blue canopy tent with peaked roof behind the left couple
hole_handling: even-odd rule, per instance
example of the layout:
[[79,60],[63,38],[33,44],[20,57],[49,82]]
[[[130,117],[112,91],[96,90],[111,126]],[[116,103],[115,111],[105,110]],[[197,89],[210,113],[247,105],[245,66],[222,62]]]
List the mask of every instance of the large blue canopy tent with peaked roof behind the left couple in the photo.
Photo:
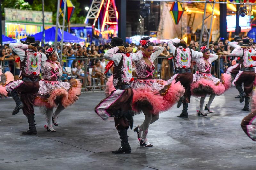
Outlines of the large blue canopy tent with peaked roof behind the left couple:
[[[47,30],[45,30],[45,42],[49,42],[49,41],[52,41],[54,42],[55,41],[55,30],[56,30],[56,27],[52,27],[52,28],[49,28]],[[38,40],[38,41],[42,41],[42,36],[43,36],[43,32],[38,32],[34,35],[31,35],[33,37],[35,37],[35,40]],[[24,39],[21,39],[22,41],[25,41],[26,38]],[[58,29],[58,41],[61,40],[61,32],[60,32],[60,29]],[[64,38],[63,38],[63,42],[82,42],[82,41],[85,41],[84,39],[80,39],[66,31],[64,31]]]

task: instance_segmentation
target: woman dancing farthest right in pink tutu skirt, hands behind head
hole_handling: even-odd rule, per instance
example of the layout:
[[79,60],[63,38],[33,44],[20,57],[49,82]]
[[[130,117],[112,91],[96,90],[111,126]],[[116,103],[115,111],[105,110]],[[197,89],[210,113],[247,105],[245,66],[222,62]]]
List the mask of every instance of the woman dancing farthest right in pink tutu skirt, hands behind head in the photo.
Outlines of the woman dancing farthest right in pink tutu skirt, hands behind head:
[[198,116],[207,116],[203,112],[203,105],[206,95],[210,95],[209,101],[205,106],[204,110],[209,113],[213,113],[210,109],[211,103],[216,95],[223,94],[231,86],[231,75],[222,74],[222,80],[212,76],[210,70],[212,62],[218,59],[218,55],[210,54],[210,50],[206,46],[201,47],[203,57],[194,58],[196,61],[197,69],[193,74],[193,82],[191,84],[191,93],[193,96],[201,96],[199,107],[197,111]]

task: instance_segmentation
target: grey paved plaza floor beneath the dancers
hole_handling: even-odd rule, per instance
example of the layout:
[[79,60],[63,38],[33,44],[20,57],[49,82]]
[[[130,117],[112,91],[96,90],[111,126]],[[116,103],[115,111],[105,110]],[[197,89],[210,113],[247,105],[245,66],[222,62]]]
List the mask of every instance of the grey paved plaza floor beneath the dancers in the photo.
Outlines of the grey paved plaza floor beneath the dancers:
[[[233,87],[216,96],[213,114],[198,117],[199,98],[192,97],[189,118],[178,118],[181,107],[161,113],[151,124],[152,148],[140,147],[136,133],[128,130],[131,154],[112,154],[120,140],[114,120],[103,121],[94,107],[103,92],[85,93],[57,119],[56,133],[46,132],[45,118],[35,108],[37,135],[21,135],[28,129],[26,117],[12,116],[14,101],[0,99],[0,170],[83,169],[256,169],[256,143],[240,127],[243,112]],[[206,98],[206,102],[208,97]],[[134,117],[134,127],[144,115]]]

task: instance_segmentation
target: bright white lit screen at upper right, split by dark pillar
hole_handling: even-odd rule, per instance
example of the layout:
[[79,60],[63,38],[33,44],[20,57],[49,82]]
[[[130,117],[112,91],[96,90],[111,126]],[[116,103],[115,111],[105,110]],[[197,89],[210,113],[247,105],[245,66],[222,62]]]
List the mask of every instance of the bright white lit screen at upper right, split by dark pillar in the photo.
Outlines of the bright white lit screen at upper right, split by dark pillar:
[[[239,16],[239,26],[241,31],[246,31],[251,29],[250,16],[246,15],[244,17]],[[236,15],[227,16],[227,31],[233,32],[236,29]]]

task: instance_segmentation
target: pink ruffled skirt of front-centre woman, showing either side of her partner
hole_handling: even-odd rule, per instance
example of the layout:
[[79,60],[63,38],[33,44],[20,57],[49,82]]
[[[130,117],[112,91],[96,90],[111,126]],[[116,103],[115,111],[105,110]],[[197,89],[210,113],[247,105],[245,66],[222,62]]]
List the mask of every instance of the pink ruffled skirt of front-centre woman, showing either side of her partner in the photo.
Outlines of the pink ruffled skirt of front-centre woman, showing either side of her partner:
[[[112,76],[106,83],[106,95],[116,90],[113,86]],[[160,79],[138,79],[132,82],[133,89],[132,110],[135,114],[141,113],[143,108],[150,110],[152,114],[159,114],[170,109],[184,94],[185,89],[180,82],[172,81],[167,84]]]

